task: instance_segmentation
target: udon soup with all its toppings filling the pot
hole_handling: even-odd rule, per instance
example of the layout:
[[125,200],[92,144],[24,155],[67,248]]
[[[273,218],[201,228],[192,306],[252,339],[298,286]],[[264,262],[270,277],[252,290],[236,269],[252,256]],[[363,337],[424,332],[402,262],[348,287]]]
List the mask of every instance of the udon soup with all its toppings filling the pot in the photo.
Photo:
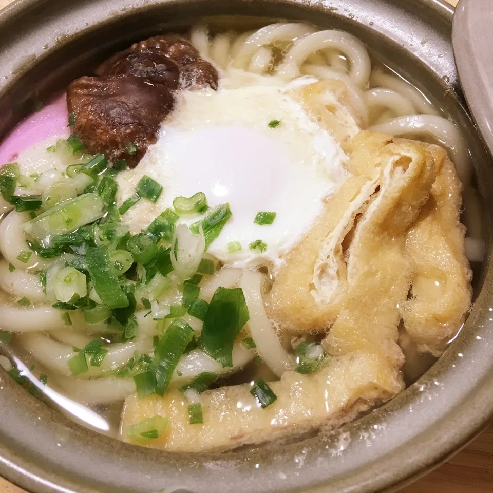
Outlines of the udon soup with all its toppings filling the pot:
[[419,376],[470,307],[460,132],[345,32],[136,43],[0,163],[0,361],[125,441],[223,451],[339,426],[403,390],[405,364]]

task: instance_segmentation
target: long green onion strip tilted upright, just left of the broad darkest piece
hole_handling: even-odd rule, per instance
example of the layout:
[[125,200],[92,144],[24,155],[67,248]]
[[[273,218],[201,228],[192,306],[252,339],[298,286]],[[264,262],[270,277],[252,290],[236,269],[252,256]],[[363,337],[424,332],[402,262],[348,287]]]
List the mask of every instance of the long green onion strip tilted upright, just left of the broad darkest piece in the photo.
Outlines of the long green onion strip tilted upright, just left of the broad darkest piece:
[[168,327],[154,351],[156,393],[164,395],[181,355],[194,338],[194,330],[185,321],[175,319]]

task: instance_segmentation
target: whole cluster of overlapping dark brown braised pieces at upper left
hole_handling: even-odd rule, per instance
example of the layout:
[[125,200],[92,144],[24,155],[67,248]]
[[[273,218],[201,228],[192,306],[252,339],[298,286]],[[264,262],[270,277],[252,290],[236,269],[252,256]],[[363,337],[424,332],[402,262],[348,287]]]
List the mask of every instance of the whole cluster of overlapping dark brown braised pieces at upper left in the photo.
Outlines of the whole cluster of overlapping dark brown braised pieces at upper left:
[[185,87],[217,89],[217,70],[176,35],[150,37],[116,53],[67,90],[73,131],[92,154],[110,163],[125,159],[135,167],[159,126],[175,105],[173,91]]

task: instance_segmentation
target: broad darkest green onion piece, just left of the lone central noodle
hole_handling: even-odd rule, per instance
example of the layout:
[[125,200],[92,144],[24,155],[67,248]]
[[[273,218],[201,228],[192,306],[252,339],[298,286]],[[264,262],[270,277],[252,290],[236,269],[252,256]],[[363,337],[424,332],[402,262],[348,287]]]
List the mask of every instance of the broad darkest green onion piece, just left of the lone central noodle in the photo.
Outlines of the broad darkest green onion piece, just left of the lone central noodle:
[[233,366],[233,343],[250,319],[241,288],[218,288],[207,309],[199,346],[223,367]]

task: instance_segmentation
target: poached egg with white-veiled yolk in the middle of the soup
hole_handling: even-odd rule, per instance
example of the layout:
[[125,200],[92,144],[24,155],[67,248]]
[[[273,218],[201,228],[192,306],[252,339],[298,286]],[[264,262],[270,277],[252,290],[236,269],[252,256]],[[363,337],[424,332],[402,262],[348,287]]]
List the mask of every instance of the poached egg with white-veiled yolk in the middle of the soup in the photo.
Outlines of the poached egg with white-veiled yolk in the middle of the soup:
[[[163,186],[156,204],[141,200],[123,216],[131,232],[172,207],[175,197],[204,192],[209,205],[228,202],[233,214],[208,252],[233,266],[278,265],[346,176],[343,150],[285,93],[307,82],[273,84],[272,77],[257,77],[256,84],[243,87],[182,92],[157,143],[135,169],[118,175],[119,202],[135,192],[144,175]],[[280,124],[271,128],[273,120]],[[275,212],[274,223],[254,224],[260,211]],[[249,248],[258,239],[266,251]],[[233,241],[242,250],[229,254]]]

